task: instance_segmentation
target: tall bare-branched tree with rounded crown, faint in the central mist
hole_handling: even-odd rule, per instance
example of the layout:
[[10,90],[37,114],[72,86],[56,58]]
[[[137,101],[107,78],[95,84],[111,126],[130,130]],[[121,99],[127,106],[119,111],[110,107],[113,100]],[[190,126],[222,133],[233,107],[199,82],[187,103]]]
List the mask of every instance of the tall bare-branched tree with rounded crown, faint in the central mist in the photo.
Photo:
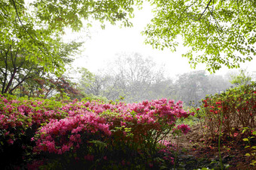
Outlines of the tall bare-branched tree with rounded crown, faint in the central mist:
[[126,88],[126,100],[130,102],[147,99],[151,85],[163,78],[163,69],[139,53],[119,54],[112,70],[124,80],[120,86]]

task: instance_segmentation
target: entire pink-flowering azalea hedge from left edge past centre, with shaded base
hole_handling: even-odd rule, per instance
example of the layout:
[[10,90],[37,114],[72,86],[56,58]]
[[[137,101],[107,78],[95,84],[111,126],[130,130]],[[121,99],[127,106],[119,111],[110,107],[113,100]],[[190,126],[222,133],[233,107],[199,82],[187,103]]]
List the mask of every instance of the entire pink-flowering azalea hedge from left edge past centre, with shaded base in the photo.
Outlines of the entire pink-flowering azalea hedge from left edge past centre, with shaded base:
[[[130,163],[139,163],[136,159],[140,157],[148,167],[153,166],[154,161],[149,163],[148,159],[158,153],[158,142],[172,132],[178,119],[189,115],[194,114],[185,112],[181,101],[166,99],[126,104],[1,97],[0,139],[4,149],[0,151],[5,153],[17,145],[33,148],[39,157],[59,155],[64,164],[73,161],[95,168],[106,168],[108,159],[133,168]],[[189,130],[184,124],[175,128],[182,133]],[[23,140],[24,136],[29,142]],[[126,160],[121,160],[125,156]],[[52,160],[48,162],[51,168],[59,166],[59,160]]]

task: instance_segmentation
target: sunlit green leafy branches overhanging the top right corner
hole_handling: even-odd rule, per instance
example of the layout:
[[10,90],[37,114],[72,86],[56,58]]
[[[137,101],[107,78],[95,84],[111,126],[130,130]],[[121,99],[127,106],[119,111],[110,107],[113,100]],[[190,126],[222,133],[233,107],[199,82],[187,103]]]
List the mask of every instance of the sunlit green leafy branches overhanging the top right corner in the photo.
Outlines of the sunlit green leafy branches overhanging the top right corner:
[[256,55],[254,0],[151,0],[151,4],[154,19],[143,31],[146,43],[175,51],[181,36],[183,45],[190,47],[183,56],[191,67],[205,63],[215,72],[221,65],[239,67],[239,62]]

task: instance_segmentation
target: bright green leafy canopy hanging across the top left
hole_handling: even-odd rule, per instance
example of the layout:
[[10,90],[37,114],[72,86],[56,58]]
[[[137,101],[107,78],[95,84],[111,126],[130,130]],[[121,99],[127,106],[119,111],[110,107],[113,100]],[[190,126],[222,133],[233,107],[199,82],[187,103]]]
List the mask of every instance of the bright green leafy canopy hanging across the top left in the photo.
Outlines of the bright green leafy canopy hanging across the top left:
[[[79,31],[83,20],[122,22],[133,14],[133,4],[139,0],[0,0],[0,53],[3,56],[19,49],[26,50],[26,60],[40,64],[44,71],[61,75],[65,61],[61,58],[61,35],[64,28]],[[15,47],[15,48],[14,48]]]

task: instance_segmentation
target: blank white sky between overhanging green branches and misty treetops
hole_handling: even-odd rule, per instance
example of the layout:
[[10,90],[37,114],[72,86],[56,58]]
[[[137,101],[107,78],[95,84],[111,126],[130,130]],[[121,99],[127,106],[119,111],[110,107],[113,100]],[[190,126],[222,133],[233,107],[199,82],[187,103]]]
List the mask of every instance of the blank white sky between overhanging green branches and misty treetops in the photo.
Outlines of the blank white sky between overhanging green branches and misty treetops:
[[[158,64],[166,65],[166,75],[175,76],[180,73],[193,71],[190,69],[187,58],[182,58],[182,52],[186,52],[184,47],[179,47],[176,52],[168,49],[163,51],[153,49],[150,45],[145,45],[145,37],[141,31],[150,22],[153,14],[151,6],[143,4],[142,10],[135,10],[135,18],[131,19],[133,28],[120,28],[118,25],[106,25],[102,30],[99,25],[90,28],[90,40],[84,44],[84,52],[75,61],[75,66],[86,67],[90,72],[96,73],[105,64],[114,59],[115,54],[120,52],[139,52],[145,57],[151,56]],[[242,68],[247,68],[249,72],[256,73],[256,60],[246,64],[240,64]],[[202,64],[197,66],[197,70],[205,70]],[[218,74],[227,72],[227,68],[219,70]]]

